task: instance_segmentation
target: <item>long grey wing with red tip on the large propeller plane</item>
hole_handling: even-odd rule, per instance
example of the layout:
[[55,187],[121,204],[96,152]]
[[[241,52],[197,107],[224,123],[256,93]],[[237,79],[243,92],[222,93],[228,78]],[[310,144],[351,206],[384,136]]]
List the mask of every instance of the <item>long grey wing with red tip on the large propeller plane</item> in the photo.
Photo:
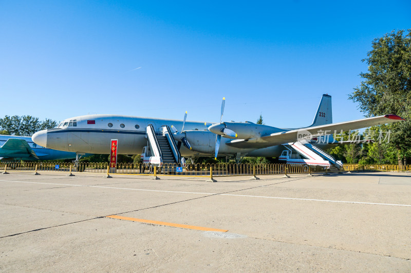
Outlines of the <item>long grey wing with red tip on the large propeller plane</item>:
[[327,131],[327,134],[333,134],[334,131],[338,133],[348,130],[356,130],[360,128],[371,127],[375,125],[381,125],[386,123],[393,123],[398,122],[401,120],[405,120],[397,115],[384,115],[378,117],[369,117],[339,123],[331,123],[331,124],[324,124],[314,127],[307,127],[301,129],[293,129],[290,131],[278,132],[273,133],[266,136],[261,136],[260,139],[246,141],[244,139],[234,139],[232,141],[226,142],[227,145],[233,146],[236,148],[243,148],[243,149],[260,149],[266,148],[269,146],[274,145],[281,145],[288,142],[295,142],[297,140],[298,132],[304,130],[304,132],[308,131],[312,134],[313,137],[324,135],[324,132]]

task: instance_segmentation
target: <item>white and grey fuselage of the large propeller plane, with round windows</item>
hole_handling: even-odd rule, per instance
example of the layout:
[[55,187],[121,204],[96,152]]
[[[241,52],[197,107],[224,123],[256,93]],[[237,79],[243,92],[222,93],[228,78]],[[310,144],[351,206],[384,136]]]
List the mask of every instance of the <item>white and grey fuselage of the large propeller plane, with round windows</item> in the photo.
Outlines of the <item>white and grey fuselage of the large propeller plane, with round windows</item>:
[[[146,128],[149,124],[153,125],[156,132],[160,132],[163,125],[168,125],[170,128],[173,126],[181,131],[183,121],[114,115],[78,116],[64,120],[57,128],[35,133],[32,139],[35,143],[47,148],[92,154],[109,154],[110,140],[118,139],[118,154],[135,155],[141,154],[143,147],[147,145]],[[190,131],[195,134],[191,134]],[[186,121],[184,132],[186,132],[192,150],[181,145],[181,156],[211,156],[214,154],[216,135],[208,130],[204,122]],[[225,144],[229,140],[221,141],[219,155],[276,157],[283,151],[281,145],[264,149],[234,148]]]

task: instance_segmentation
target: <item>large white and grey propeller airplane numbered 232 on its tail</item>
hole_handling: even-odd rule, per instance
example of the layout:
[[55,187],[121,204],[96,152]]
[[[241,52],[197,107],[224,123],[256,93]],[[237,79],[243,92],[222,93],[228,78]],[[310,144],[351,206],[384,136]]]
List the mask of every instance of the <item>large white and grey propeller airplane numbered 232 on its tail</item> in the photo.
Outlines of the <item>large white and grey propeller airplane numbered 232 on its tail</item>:
[[175,146],[181,157],[214,155],[217,158],[219,155],[233,156],[238,161],[246,155],[281,156],[283,144],[295,142],[301,136],[315,138],[324,132],[332,134],[334,130],[348,131],[404,120],[389,114],[332,123],[331,96],[327,94],[322,96],[312,124],[297,129],[276,128],[250,121],[223,122],[224,107],[225,98],[221,104],[220,122],[217,123],[186,121],[186,114],[183,120],[120,115],[77,116],[65,119],[57,128],[36,132],[32,140],[47,148],[75,152],[79,156],[84,153],[109,154],[110,140],[118,139],[118,154],[136,155],[147,146],[159,148],[159,141],[152,135],[164,135],[165,131],[173,128],[174,132],[169,133],[178,143]]

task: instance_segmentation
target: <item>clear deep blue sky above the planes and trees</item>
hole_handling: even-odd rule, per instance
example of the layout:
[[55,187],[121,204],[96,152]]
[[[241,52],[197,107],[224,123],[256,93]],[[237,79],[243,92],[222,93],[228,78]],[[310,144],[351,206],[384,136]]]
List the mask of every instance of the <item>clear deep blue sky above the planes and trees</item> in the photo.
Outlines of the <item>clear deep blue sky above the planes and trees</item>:
[[[371,41],[411,28],[409,1],[0,0],[4,115],[57,121],[121,114],[276,127],[309,125],[321,95],[333,121]],[[138,69],[136,69],[138,68]],[[388,114],[388,113],[387,113]]]

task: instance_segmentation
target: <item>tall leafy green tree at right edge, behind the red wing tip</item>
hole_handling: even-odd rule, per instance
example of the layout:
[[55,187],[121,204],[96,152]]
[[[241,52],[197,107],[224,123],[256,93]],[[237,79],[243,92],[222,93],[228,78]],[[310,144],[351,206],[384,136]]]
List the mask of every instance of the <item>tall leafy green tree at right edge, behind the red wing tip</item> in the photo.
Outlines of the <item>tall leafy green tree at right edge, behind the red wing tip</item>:
[[392,31],[372,41],[367,58],[368,72],[360,73],[361,85],[350,99],[366,114],[395,114],[406,121],[384,128],[391,132],[389,146],[397,151],[400,167],[411,157],[411,29]]

